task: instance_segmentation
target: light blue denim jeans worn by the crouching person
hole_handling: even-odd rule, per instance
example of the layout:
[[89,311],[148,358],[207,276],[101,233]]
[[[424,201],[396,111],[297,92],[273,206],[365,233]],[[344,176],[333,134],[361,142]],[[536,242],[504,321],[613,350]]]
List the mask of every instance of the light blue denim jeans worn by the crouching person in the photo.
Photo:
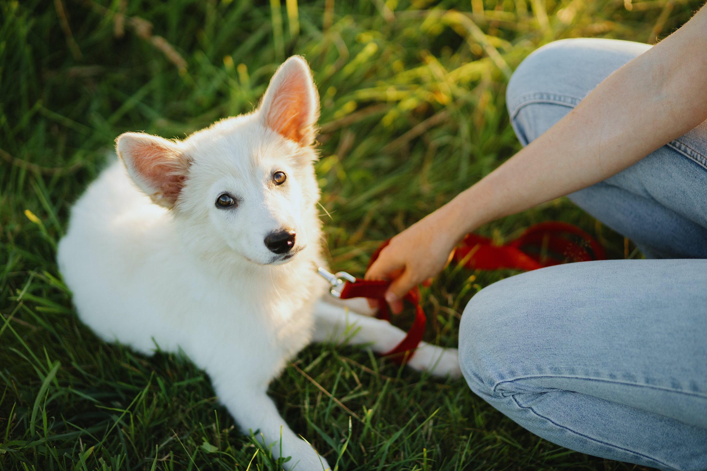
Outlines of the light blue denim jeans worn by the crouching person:
[[[508,84],[526,145],[648,46],[562,40]],[[575,451],[661,470],[707,470],[707,122],[569,197],[650,260],[543,268],[464,309],[469,387]]]

